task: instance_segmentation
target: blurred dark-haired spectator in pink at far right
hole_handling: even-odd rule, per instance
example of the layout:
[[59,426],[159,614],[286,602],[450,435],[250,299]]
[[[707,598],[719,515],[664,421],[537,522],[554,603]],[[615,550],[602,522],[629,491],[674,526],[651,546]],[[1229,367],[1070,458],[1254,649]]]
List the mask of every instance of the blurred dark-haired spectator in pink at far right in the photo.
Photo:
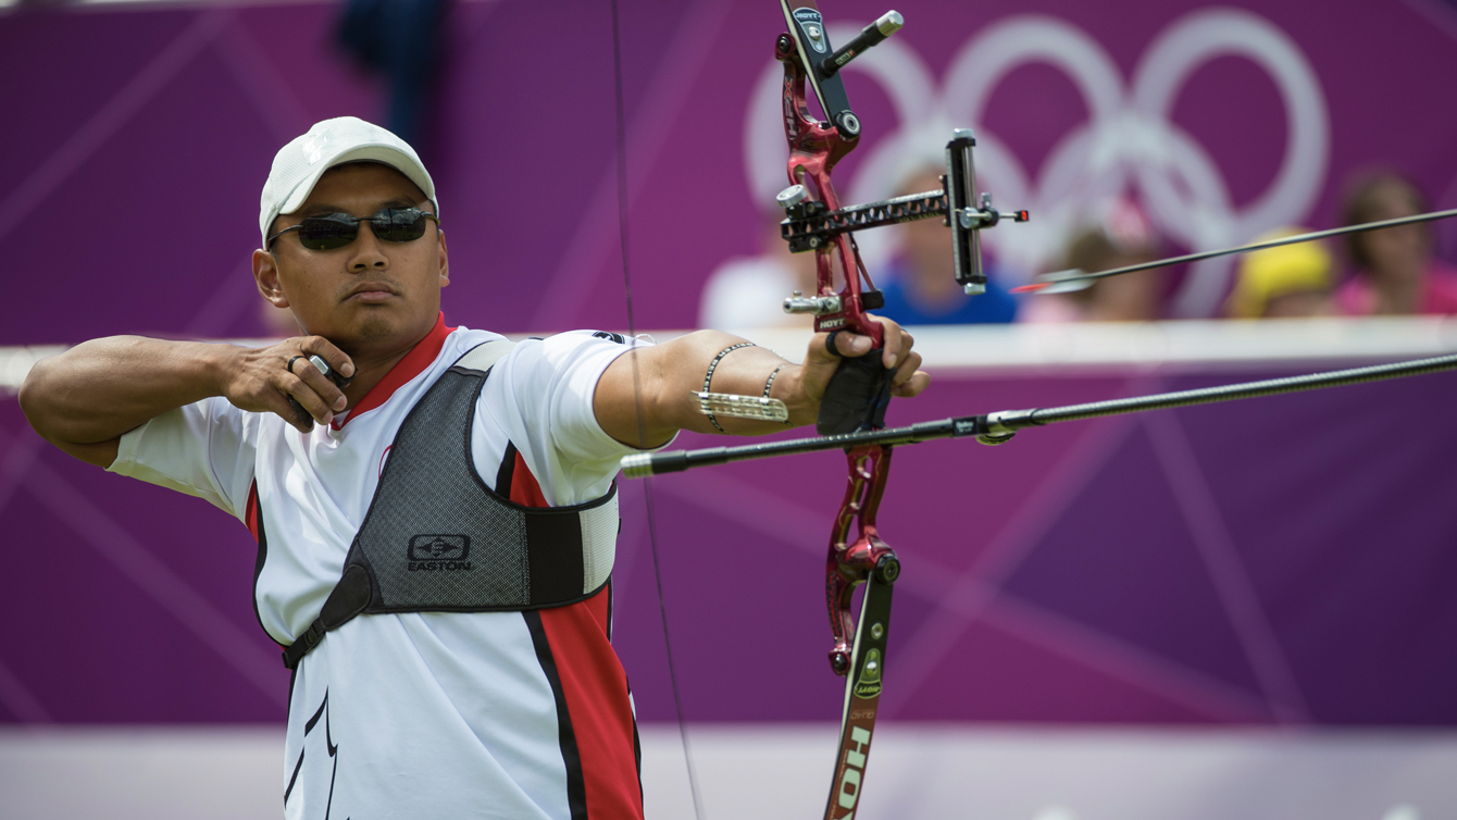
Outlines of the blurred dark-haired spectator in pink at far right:
[[[1358,182],[1346,197],[1345,224],[1419,214],[1426,197],[1396,173]],[[1405,224],[1346,236],[1355,275],[1336,290],[1336,304],[1352,316],[1457,313],[1457,269],[1432,255],[1426,224]]]

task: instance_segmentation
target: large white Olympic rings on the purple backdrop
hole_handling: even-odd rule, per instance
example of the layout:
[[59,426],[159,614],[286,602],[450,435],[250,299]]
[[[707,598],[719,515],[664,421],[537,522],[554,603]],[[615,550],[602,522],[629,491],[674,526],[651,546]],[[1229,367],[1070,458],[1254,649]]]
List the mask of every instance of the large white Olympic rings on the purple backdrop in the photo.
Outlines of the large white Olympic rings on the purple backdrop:
[[[861,26],[829,29],[845,42]],[[1279,169],[1250,202],[1236,207],[1218,165],[1202,144],[1171,122],[1187,79],[1218,57],[1243,57],[1273,80],[1285,108],[1287,140]],[[1087,122],[1055,143],[1036,179],[995,133],[982,127],[997,84],[1014,68],[1043,63],[1061,70],[1088,109]],[[1300,47],[1259,15],[1236,9],[1192,12],[1161,31],[1125,84],[1107,51],[1067,20],[1045,15],[1005,17],[982,29],[951,60],[937,83],[921,57],[895,38],[847,70],[876,80],[900,127],[879,140],[848,186],[848,202],[893,194],[905,175],[935,163],[956,125],[978,140],[978,182],[1005,207],[1026,207],[1033,221],[992,230],[986,246],[1011,280],[1055,264],[1091,208],[1113,197],[1139,200],[1169,239],[1212,249],[1278,226],[1303,221],[1314,205],[1330,153],[1330,119],[1314,70]],[[756,201],[772,201],[785,185],[777,61],[765,67],[745,118],[745,167]],[[940,90],[938,90],[940,86]],[[893,233],[858,237],[876,269],[893,252]],[[1209,316],[1224,299],[1230,259],[1196,264],[1174,297],[1174,313]]]

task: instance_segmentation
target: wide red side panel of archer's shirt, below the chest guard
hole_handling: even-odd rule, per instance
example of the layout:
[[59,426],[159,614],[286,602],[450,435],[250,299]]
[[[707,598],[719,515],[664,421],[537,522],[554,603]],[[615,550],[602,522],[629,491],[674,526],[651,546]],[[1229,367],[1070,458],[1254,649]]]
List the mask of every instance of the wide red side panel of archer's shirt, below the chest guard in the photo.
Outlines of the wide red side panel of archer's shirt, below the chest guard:
[[628,676],[608,641],[610,588],[541,610],[581,756],[592,820],[641,820]]

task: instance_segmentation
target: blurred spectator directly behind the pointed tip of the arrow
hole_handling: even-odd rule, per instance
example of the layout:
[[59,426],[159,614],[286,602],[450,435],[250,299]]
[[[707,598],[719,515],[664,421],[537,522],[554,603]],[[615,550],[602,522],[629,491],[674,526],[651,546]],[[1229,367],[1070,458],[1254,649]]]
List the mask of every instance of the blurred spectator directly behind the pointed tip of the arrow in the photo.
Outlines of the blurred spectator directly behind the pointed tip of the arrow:
[[[1113,200],[1100,208],[1096,224],[1068,242],[1059,269],[1090,274],[1158,258],[1152,226],[1138,205]],[[1160,318],[1164,272],[1160,269],[1097,280],[1083,290],[1032,296],[1023,322],[1151,322]]]

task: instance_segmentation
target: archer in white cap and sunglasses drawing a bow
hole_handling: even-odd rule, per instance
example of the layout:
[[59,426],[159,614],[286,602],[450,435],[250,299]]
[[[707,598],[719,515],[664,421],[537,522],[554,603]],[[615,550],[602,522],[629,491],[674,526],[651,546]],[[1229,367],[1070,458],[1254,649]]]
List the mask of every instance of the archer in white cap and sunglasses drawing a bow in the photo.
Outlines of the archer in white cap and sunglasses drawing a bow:
[[[319,122],[274,159],[252,258],[305,335],[95,339],[38,363],[22,408],[67,453],[258,537],[254,603],[294,671],[287,817],[641,817],[609,642],[618,460],[678,430],[784,430],[705,415],[707,386],[807,424],[839,358],[823,336],[796,366],[711,331],[449,328],[440,218],[408,144]],[[896,395],[925,387],[890,322],[883,361]]]

